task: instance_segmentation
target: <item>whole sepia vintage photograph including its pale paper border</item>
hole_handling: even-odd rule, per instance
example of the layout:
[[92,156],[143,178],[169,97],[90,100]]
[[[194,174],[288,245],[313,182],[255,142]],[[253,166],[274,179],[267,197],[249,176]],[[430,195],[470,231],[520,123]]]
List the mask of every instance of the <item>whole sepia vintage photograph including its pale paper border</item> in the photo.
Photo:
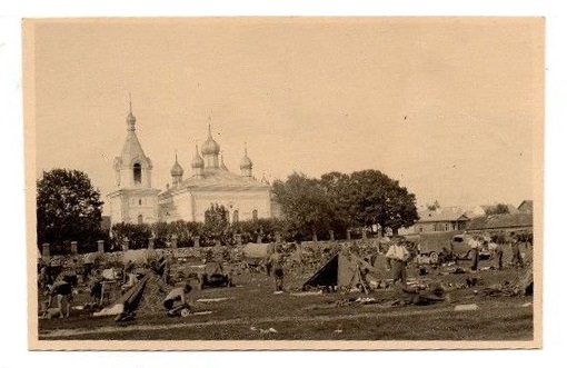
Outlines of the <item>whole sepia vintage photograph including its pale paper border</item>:
[[30,349],[540,348],[544,29],[24,20]]

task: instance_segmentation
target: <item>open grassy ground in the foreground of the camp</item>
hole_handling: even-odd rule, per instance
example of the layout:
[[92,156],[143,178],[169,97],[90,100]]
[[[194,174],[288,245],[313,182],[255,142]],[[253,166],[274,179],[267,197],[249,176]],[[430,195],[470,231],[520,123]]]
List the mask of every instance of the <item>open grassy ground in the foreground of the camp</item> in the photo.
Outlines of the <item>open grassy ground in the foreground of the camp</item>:
[[[487,266],[484,262],[480,266]],[[466,268],[468,265],[461,265]],[[445,275],[428,269],[421,279],[465,284],[476,277],[484,286],[514,280],[518,270],[487,270],[478,273]],[[442,273],[441,273],[442,272]],[[410,270],[417,277],[417,269]],[[309,275],[288,275],[286,287],[294,291]],[[238,287],[192,292],[198,311],[210,315],[169,318],[165,315],[138,316],[117,325],[112,318],[78,315],[69,319],[41,319],[40,339],[105,340],[530,340],[533,309],[523,307],[531,297],[488,298],[474,292],[484,286],[456,289],[448,300],[429,306],[391,307],[389,301],[407,298],[400,290],[294,296],[275,295],[271,280],[261,273],[236,276]],[[84,296],[79,295],[77,299]],[[348,298],[372,297],[377,304],[337,306]],[[229,298],[220,302],[198,302],[203,298]],[[476,304],[478,310],[454,311],[455,305]],[[269,329],[276,332],[269,332]]]

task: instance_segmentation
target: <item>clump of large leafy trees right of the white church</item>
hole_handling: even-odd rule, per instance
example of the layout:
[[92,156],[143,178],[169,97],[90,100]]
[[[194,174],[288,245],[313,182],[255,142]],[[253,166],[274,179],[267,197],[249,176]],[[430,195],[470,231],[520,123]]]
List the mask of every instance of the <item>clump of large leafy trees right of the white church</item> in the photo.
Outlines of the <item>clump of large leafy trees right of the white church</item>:
[[272,191],[289,228],[300,238],[329,230],[342,237],[347,229],[374,225],[397,233],[419,219],[416,196],[378,170],[334,171],[318,179],[295,172],[275,181]]

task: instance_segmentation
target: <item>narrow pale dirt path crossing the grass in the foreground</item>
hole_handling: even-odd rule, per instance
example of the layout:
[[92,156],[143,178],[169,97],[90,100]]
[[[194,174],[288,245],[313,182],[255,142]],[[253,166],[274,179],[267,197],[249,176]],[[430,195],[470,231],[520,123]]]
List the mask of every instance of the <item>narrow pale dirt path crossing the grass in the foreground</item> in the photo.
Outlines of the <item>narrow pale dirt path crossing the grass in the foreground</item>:
[[379,310],[374,309],[372,312],[361,312],[356,315],[335,315],[335,316],[281,316],[281,317],[265,317],[265,318],[232,318],[225,320],[211,320],[206,322],[179,322],[179,324],[167,324],[167,325],[131,325],[131,326],[105,326],[93,329],[57,329],[51,331],[40,331],[39,338],[63,338],[63,337],[77,337],[81,335],[92,334],[113,334],[117,331],[149,331],[149,330],[166,330],[175,328],[197,328],[208,326],[228,326],[228,325],[241,325],[241,324],[265,324],[265,322],[309,322],[309,321],[331,321],[331,320],[351,320],[365,317],[396,317],[396,316],[420,316],[420,315],[435,315],[442,314],[452,310],[452,308],[435,308],[427,310],[408,310],[407,308],[400,308],[396,310]]

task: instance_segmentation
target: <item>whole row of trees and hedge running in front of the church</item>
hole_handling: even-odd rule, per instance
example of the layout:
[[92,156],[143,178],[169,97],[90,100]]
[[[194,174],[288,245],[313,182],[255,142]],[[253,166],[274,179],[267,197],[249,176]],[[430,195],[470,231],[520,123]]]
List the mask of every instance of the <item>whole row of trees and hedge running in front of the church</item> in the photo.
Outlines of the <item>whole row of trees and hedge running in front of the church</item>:
[[[111,231],[101,229],[100,192],[84,172],[54,169],[37,181],[38,243],[64,245],[79,241],[96,249],[97,240],[110,248],[121,248],[126,239],[132,249],[146,247],[152,238],[155,247],[167,247],[173,238],[178,247],[192,246],[199,237],[201,246],[281,240],[345,239],[347,229],[378,225],[396,233],[418,219],[416,197],[398,181],[378,170],[350,175],[329,172],[320,178],[292,173],[272,185],[281,218],[256,219],[229,223],[228,211],[211,205],[203,222],[173,221],[152,225],[116,223]],[[70,247],[70,246],[68,246]]]

